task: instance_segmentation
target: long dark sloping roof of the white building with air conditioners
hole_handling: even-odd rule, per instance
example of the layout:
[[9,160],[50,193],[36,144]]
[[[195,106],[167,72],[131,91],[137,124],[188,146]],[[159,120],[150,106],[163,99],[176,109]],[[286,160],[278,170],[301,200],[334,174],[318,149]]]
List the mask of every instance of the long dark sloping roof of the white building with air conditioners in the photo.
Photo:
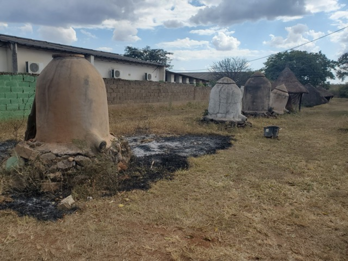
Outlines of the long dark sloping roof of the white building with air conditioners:
[[17,36],[10,36],[5,34],[0,34],[0,42],[7,43],[17,43],[22,46],[27,46],[28,48],[42,48],[47,50],[52,50],[54,52],[63,52],[63,53],[76,53],[83,55],[93,55],[94,57],[99,57],[101,59],[112,59],[119,60],[127,63],[137,63],[144,65],[153,65],[153,66],[165,66],[159,63],[147,62],[139,59],[125,57],[115,53],[108,53],[103,51],[96,51],[92,49],[80,48],[75,46],[69,46],[58,43],[51,43],[46,41],[22,38]]

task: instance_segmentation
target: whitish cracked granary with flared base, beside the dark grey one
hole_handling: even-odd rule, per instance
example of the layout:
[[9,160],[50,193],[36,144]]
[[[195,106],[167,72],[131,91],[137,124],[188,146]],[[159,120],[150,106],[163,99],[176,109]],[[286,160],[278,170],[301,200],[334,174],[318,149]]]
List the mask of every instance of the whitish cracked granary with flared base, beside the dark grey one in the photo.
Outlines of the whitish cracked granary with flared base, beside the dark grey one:
[[241,89],[232,79],[224,77],[211,89],[208,115],[203,120],[244,123],[247,117],[242,115],[241,110]]

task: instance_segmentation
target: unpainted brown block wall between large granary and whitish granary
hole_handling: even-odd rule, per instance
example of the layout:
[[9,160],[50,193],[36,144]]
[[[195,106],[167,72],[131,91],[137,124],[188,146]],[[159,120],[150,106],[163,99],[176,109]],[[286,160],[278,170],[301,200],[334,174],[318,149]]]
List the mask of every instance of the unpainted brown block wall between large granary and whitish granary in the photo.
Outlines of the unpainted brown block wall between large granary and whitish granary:
[[211,87],[151,81],[104,79],[108,104],[208,101]]

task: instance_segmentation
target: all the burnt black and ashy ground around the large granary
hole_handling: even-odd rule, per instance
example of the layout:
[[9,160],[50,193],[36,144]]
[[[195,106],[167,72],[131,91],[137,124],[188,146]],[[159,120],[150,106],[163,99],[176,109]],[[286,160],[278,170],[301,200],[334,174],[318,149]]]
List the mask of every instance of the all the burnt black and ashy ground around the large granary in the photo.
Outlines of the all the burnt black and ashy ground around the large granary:
[[[149,189],[153,182],[173,178],[174,172],[188,169],[188,157],[213,154],[217,150],[227,149],[232,137],[222,135],[183,135],[161,137],[140,135],[126,138],[134,153],[129,169],[120,174],[118,191]],[[5,153],[15,145],[14,141],[0,143],[2,159]],[[1,159],[1,158],[0,158]],[[1,161],[0,161],[1,162]],[[64,193],[67,196],[69,193]],[[105,194],[105,196],[112,195]],[[54,197],[44,194],[16,194],[11,202],[0,204],[1,209],[12,209],[19,216],[32,216],[42,221],[61,219],[65,213],[56,207]],[[71,212],[70,212],[71,213]]]

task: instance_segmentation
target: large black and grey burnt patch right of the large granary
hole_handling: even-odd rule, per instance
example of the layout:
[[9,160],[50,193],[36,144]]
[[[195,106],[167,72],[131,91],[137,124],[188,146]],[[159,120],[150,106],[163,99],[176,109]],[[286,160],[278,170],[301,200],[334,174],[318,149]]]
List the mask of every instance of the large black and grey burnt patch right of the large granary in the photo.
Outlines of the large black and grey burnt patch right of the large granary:
[[134,158],[122,174],[120,190],[149,189],[153,182],[172,179],[175,171],[187,170],[188,157],[212,154],[232,146],[231,137],[222,135],[161,137],[150,134],[126,139]]

